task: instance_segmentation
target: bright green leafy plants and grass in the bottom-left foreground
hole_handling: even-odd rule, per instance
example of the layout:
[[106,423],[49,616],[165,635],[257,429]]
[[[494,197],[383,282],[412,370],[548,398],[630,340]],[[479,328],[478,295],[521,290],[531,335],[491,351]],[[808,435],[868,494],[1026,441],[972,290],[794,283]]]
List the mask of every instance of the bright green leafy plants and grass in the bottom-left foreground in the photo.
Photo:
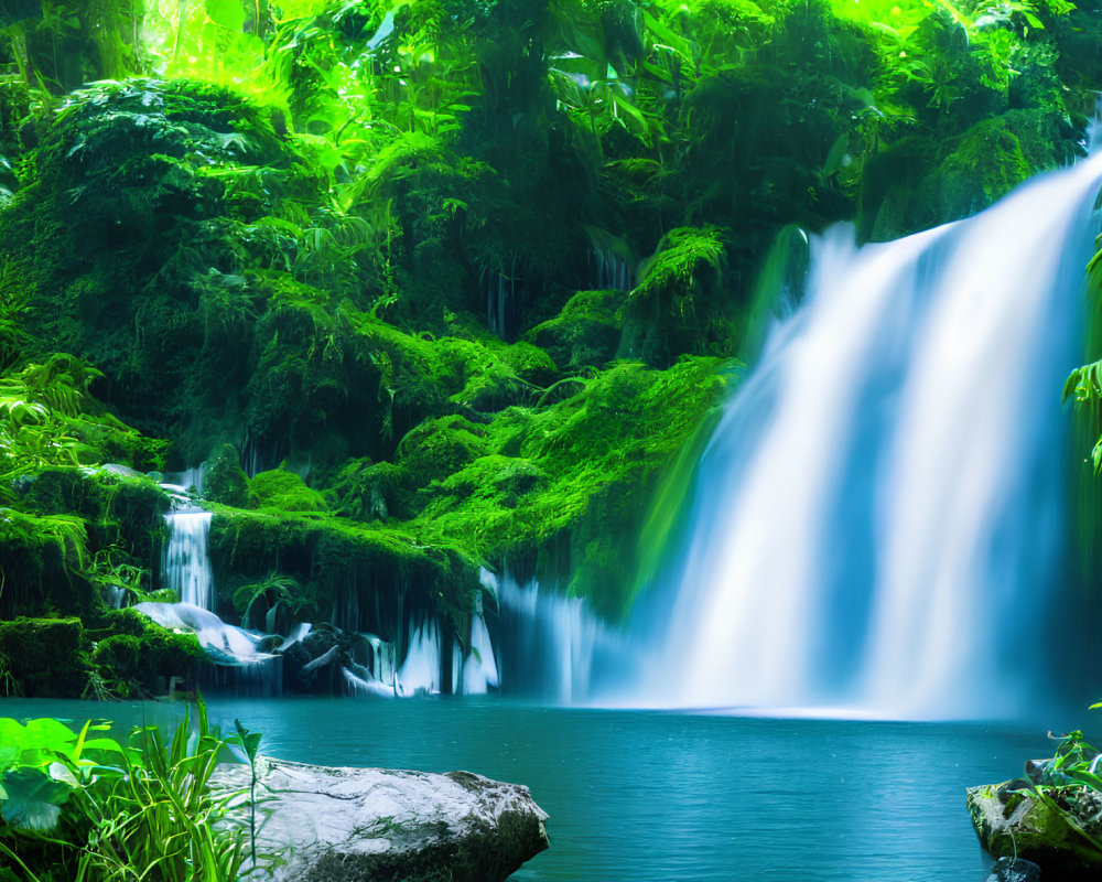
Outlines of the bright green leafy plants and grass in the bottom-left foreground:
[[0,720],[0,873],[18,868],[9,878],[31,882],[237,879],[247,836],[227,807],[239,795],[209,784],[228,747],[252,761],[259,738],[240,725],[224,736],[202,701],[195,725],[185,713],[168,739],[145,727],[120,743],[101,734],[109,728]]

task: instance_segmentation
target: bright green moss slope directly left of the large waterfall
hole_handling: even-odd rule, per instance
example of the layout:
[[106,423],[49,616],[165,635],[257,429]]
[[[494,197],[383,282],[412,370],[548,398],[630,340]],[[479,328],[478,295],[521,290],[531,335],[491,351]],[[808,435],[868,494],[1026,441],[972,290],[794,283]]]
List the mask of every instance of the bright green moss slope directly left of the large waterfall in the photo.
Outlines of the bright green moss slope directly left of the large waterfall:
[[619,363],[553,406],[503,411],[484,429],[483,455],[447,459],[452,473],[422,485],[409,527],[485,560],[553,549],[543,556],[560,583],[623,615],[651,496],[726,388],[724,365]]

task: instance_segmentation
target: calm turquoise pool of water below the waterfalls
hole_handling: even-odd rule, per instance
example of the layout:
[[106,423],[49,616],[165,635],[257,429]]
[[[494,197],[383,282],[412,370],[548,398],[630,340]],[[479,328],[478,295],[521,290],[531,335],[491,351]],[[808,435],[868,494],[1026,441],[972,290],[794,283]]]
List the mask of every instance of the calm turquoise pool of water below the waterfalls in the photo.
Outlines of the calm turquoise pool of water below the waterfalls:
[[[775,720],[499,699],[209,700],[273,756],[527,784],[551,849],[520,882],[982,882],[964,788],[1050,754],[1007,724]],[[166,721],[177,706],[0,701],[2,716]]]

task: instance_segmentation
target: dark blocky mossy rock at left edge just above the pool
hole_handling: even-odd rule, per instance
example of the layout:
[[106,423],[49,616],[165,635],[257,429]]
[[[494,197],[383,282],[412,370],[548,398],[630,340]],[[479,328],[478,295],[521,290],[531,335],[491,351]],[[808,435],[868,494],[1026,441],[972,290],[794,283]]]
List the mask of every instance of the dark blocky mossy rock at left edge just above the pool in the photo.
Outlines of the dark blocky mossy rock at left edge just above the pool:
[[0,693],[76,698],[88,685],[88,655],[79,619],[0,622]]

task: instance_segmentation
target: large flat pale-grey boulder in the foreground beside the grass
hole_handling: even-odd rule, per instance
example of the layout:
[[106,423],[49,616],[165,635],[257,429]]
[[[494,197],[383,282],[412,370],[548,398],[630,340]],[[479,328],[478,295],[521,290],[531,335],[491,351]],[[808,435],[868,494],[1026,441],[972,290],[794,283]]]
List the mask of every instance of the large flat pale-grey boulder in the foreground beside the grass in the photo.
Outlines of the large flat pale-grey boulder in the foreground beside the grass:
[[[331,768],[259,757],[257,851],[290,882],[500,882],[548,847],[527,787],[471,772]],[[247,765],[215,785],[248,792]],[[248,806],[235,800],[247,825]]]

